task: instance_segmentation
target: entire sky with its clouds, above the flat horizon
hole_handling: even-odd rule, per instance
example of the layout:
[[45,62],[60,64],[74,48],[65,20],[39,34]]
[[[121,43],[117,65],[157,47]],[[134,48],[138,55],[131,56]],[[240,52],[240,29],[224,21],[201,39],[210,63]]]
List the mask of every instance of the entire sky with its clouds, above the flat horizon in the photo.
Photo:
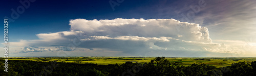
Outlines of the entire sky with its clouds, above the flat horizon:
[[255,3],[4,0],[0,16],[9,57],[255,57]]

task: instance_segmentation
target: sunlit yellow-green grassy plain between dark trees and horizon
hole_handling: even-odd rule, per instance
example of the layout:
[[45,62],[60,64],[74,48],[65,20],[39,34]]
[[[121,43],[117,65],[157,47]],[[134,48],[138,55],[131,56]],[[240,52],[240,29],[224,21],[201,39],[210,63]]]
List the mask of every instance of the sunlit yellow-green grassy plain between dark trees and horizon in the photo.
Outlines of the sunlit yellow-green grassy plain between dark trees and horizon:
[[[31,60],[31,61],[57,61],[69,63],[94,63],[100,65],[122,64],[126,61],[145,63],[150,62],[156,57],[12,57],[8,60]],[[176,62],[183,66],[189,66],[193,63],[214,65],[216,67],[230,66],[234,62],[245,61],[250,63],[256,61],[256,57],[165,57],[170,62]],[[0,58],[5,59],[5,58]]]

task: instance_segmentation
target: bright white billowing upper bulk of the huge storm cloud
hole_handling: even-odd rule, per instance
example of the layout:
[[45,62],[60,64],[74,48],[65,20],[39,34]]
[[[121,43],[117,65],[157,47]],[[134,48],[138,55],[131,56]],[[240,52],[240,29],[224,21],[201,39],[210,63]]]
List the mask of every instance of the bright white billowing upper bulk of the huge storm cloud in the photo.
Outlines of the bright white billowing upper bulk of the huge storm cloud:
[[[175,19],[121,19],[114,20],[70,20],[71,30],[83,31],[88,36],[172,36],[186,41],[211,42],[208,29],[198,24],[180,22]],[[179,26],[178,31],[176,27]]]

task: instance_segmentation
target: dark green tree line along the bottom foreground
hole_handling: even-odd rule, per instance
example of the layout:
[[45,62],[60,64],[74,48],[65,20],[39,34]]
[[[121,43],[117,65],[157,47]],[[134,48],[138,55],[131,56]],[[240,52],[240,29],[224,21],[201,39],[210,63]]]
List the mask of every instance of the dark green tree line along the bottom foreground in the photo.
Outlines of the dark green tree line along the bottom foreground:
[[[1,67],[4,66],[4,61]],[[157,57],[149,63],[125,62],[121,65],[97,65],[63,63],[56,61],[37,62],[8,60],[8,73],[0,68],[1,75],[256,75],[256,61],[232,63],[231,66],[217,68],[206,64],[183,66],[169,62],[165,57]]]

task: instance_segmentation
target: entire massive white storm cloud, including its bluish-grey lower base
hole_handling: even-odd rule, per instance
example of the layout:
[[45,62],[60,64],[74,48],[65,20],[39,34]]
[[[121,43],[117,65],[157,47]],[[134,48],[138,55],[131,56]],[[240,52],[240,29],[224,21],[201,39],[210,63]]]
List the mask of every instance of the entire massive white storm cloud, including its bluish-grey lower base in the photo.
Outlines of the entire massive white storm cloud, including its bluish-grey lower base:
[[[122,53],[120,55],[154,54],[156,52],[167,52],[170,55],[177,55],[180,52],[180,55],[188,55],[193,51],[237,53],[233,50],[225,50],[236,48],[212,43],[206,27],[175,19],[74,19],[70,20],[70,25],[70,31],[39,33],[37,36],[40,40],[23,40],[10,44],[24,47],[20,51],[23,53],[88,50]],[[70,44],[73,46],[69,46]],[[168,55],[167,53],[165,55]]]

